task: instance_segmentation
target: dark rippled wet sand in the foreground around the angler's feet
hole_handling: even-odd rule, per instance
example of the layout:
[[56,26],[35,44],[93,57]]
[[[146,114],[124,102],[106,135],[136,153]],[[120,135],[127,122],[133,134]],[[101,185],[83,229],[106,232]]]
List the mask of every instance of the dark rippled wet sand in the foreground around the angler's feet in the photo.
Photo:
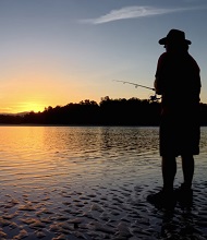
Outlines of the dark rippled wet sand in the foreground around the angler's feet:
[[194,182],[192,206],[173,209],[146,201],[159,183],[145,178],[1,189],[0,239],[207,239],[207,181]]

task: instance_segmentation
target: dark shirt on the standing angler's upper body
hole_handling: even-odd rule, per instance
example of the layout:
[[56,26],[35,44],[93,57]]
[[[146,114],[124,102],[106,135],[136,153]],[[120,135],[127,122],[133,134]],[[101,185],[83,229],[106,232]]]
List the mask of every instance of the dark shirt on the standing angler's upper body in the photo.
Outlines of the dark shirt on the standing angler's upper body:
[[192,106],[199,104],[199,67],[188,52],[162,53],[156,79],[162,95],[163,111],[192,110]]

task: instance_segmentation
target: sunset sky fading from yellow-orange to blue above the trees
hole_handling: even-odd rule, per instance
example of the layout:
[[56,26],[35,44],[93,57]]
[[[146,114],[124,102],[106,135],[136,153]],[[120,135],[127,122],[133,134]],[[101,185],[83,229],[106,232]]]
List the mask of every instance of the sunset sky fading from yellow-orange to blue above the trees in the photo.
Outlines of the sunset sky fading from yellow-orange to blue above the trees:
[[207,104],[207,0],[0,0],[0,112],[148,98],[158,40],[185,32]]

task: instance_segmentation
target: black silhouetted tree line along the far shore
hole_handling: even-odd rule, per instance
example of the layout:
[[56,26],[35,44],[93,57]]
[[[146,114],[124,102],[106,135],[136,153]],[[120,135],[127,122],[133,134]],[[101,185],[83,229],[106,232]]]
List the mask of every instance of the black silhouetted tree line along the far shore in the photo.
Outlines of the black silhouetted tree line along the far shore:
[[[42,112],[0,115],[1,124],[57,124],[57,125],[159,125],[159,101],[138,98],[111,99],[108,96],[97,104],[86,99]],[[207,125],[207,105],[200,104],[200,123]]]

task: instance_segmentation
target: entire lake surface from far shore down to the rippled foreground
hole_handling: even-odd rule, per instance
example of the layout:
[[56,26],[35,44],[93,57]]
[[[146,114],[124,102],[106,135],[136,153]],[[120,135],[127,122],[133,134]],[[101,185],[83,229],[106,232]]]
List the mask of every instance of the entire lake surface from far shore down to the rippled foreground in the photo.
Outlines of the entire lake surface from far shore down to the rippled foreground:
[[161,187],[158,128],[0,127],[0,239],[115,239],[124,227],[132,240],[185,228],[207,237],[207,128],[195,156],[197,205],[187,218],[178,206],[167,233],[166,215],[146,202]]

